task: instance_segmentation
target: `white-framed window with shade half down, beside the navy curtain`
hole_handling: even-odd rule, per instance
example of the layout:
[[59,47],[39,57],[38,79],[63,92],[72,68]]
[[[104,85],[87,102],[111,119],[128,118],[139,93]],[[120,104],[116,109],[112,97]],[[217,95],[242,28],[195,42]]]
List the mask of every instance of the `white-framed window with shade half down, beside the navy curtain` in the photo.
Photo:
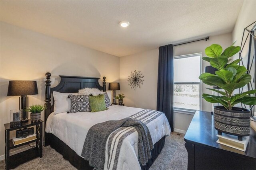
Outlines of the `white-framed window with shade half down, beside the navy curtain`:
[[201,53],[174,57],[174,109],[200,110]]

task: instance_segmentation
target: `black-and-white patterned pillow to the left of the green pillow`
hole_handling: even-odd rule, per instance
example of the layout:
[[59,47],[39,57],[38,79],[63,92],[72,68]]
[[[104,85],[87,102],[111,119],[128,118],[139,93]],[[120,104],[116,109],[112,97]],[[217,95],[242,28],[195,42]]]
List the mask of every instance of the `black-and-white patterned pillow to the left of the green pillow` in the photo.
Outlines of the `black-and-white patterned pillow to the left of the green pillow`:
[[89,95],[69,95],[71,107],[68,113],[76,113],[79,111],[91,111]]

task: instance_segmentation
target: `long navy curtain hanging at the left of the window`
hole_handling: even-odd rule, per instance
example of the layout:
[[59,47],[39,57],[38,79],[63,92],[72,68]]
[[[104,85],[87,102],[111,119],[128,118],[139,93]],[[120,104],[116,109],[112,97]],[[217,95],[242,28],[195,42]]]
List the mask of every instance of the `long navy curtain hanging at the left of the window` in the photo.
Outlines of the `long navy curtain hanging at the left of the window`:
[[173,126],[173,47],[159,47],[156,109],[165,113],[172,131]]

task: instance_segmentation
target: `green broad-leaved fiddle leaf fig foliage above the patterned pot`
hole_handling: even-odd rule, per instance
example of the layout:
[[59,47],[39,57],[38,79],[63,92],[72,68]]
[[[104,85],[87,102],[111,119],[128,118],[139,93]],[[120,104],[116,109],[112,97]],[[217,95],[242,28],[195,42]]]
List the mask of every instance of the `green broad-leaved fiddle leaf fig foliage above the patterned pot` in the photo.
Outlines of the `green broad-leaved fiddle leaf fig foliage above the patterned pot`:
[[[234,43],[222,52],[222,47],[218,44],[212,44],[205,49],[205,54],[208,57],[202,57],[202,60],[207,61],[210,65],[217,69],[215,74],[202,73],[199,79],[204,84],[210,86],[218,86],[221,90],[214,88],[207,88],[219,93],[219,96],[212,94],[203,94],[202,97],[210,103],[220,103],[226,109],[232,110],[232,107],[238,103],[246,105],[255,105],[256,97],[249,94],[255,94],[256,90],[249,90],[247,92],[233,94],[234,90],[244,87],[248,84],[252,77],[246,74],[247,69],[240,66],[238,63],[241,59],[236,59],[232,62],[230,57],[240,51],[239,46],[233,46]],[[230,62],[230,63],[229,63]]]

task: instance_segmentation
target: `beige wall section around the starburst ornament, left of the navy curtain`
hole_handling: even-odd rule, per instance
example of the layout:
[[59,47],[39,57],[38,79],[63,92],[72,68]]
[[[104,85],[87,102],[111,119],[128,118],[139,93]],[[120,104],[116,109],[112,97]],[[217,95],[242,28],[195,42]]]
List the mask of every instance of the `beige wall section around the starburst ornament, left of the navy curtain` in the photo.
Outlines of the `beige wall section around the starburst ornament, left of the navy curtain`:
[[[144,82],[134,90],[128,86],[128,76],[141,71]],[[120,93],[124,93],[126,106],[156,109],[158,49],[120,58]]]

